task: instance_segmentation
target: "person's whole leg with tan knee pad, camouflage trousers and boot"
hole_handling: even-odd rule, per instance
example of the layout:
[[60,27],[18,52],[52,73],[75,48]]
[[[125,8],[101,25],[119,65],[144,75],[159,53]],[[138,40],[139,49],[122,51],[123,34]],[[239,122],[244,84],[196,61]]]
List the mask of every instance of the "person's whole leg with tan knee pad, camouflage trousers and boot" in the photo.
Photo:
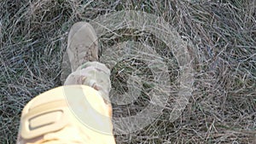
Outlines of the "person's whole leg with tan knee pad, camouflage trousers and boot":
[[[115,143],[110,71],[96,61],[97,45],[90,24],[73,25],[67,41],[73,72],[64,86],[36,96],[24,107],[17,143]],[[82,113],[79,118],[85,124],[75,113]]]

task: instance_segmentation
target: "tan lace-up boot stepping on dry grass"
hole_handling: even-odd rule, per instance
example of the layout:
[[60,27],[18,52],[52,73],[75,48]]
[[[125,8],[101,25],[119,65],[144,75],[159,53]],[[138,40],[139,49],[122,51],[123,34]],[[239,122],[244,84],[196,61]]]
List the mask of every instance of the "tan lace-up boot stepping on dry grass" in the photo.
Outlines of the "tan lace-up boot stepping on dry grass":
[[87,22],[77,22],[67,39],[67,55],[72,72],[87,61],[98,60],[98,42],[94,28]]

